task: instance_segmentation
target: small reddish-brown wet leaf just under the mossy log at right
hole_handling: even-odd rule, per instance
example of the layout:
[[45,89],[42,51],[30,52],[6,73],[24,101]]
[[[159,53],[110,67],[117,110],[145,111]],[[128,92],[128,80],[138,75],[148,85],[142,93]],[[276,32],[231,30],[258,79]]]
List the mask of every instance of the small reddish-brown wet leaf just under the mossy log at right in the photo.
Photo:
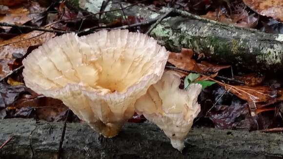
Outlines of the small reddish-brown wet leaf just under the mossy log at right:
[[234,76],[234,78],[243,81],[247,86],[258,86],[263,83],[265,77],[259,74],[247,74],[243,76]]

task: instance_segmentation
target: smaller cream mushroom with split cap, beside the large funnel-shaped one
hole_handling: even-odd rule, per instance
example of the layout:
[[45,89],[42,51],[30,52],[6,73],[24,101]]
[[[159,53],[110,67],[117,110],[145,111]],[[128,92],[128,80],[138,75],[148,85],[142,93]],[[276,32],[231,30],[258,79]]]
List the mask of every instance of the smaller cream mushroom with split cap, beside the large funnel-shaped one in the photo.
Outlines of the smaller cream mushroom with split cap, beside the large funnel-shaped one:
[[191,84],[187,90],[179,89],[181,76],[165,72],[147,93],[135,103],[136,112],[154,122],[170,138],[174,148],[182,151],[184,139],[193,120],[199,114],[198,95],[200,84]]

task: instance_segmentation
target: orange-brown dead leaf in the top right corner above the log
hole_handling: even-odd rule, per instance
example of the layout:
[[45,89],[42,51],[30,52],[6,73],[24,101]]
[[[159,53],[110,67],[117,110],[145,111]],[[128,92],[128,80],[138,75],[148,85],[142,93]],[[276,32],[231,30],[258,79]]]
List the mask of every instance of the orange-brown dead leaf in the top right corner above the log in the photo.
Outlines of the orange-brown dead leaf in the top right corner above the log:
[[282,0],[243,0],[243,2],[260,15],[283,21]]

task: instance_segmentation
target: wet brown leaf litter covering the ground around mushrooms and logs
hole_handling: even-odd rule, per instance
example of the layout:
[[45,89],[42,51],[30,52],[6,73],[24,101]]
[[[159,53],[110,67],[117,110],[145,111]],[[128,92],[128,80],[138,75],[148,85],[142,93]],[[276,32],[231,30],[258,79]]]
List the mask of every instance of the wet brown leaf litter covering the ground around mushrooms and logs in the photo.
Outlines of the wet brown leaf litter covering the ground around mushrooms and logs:
[[[41,7],[35,1],[31,1],[31,5],[26,5],[27,1],[23,1],[2,4],[4,6],[1,10],[3,11],[1,13],[2,19],[11,20],[9,23],[19,25],[29,23],[39,27],[54,23],[51,25],[52,29],[64,31],[100,29],[106,26],[119,27],[144,20],[144,17],[132,16],[126,19],[121,17],[112,23],[103,24],[92,17],[84,18],[87,13],[75,12],[64,3],[59,3],[51,10],[50,8],[47,10],[46,6]],[[22,3],[25,5],[19,5]],[[256,28],[269,33],[283,33],[283,25],[278,21],[278,18],[273,16],[270,16],[273,18],[263,18],[259,11],[250,5],[245,6],[241,0],[154,0],[153,4],[156,8],[171,6],[223,23]],[[13,20],[17,16],[20,16],[18,21]],[[47,18],[44,19],[44,16]],[[68,20],[74,18],[79,19]],[[131,31],[145,32],[146,29],[146,27],[136,27]],[[66,118],[68,109],[60,100],[35,94],[26,88],[22,84],[20,70],[5,78],[15,68],[21,66],[21,60],[26,54],[44,41],[56,36],[56,34],[48,32],[23,31],[24,33],[20,34],[15,27],[2,30],[2,33],[11,34],[14,38],[7,39],[6,36],[1,37],[0,40],[0,52],[2,53],[0,55],[0,78],[2,79],[0,83],[0,119],[20,117],[62,121]],[[17,34],[20,35],[15,37]],[[248,130],[282,126],[282,124],[278,124],[280,123],[278,121],[283,120],[283,106],[280,104],[283,101],[283,91],[281,86],[274,86],[273,83],[266,84],[267,76],[258,73],[251,74],[245,70],[232,71],[231,73],[230,65],[219,65],[205,57],[196,57],[193,50],[186,48],[182,48],[181,53],[171,52],[168,62],[178,68],[199,73],[190,75],[178,71],[183,76],[181,85],[184,88],[192,82],[201,83],[203,86],[198,99],[202,110],[195,126],[205,125],[221,129],[244,128]],[[232,79],[242,80],[244,84],[239,85],[239,83],[229,80],[217,80],[218,75],[231,76]],[[143,122],[144,120],[144,117],[135,114],[133,119],[129,119],[129,122]],[[72,121],[78,121],[78,118],[73,115]]]

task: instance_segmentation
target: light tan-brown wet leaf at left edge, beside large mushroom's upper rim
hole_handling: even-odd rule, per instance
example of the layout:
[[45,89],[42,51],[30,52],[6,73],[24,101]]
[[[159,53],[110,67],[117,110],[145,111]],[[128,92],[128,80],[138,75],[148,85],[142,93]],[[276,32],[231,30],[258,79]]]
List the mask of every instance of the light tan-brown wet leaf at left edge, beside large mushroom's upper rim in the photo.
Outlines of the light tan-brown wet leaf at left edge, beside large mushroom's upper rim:
[[55,34],[50,32],[32,31],[0,42],[0,78],[11,72],[8,63],[14,63],[13,54],[24,56],[30,46],[40,45],[54,36]]

